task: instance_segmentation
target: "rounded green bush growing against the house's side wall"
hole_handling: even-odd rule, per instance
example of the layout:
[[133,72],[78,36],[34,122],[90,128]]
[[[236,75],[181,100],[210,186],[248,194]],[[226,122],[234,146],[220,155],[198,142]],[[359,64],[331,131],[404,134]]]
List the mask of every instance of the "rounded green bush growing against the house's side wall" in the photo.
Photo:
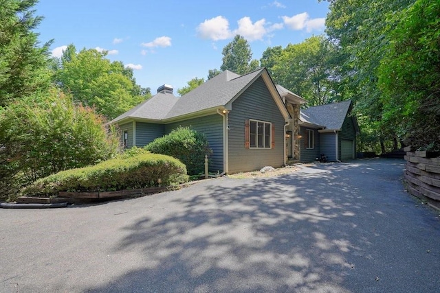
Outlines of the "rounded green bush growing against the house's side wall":
[[190,175],[203,173],[205,155],[212,154],[205,134],[189,127],[179,127],[170,134],[148,143],[145,149],[155,154],[166,154],[179,159],[186,165]]

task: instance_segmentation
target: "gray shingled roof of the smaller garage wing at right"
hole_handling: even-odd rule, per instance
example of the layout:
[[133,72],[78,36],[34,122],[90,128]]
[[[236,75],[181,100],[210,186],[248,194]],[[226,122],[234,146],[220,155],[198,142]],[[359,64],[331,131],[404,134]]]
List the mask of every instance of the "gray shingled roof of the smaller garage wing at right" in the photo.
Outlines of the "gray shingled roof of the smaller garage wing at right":
[[300,110],[300,119],[316,126],[325,126],[329,130],[340,130],[350,106],[351,100],[310,107]]

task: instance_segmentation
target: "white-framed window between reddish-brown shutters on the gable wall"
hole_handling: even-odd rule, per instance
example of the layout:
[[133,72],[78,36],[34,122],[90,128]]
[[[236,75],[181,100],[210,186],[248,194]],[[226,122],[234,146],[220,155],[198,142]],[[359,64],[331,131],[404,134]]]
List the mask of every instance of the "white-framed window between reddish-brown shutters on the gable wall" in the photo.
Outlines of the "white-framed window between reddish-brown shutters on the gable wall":
[[245,148],[273,148],[273,132],[270,122],[246,120]]

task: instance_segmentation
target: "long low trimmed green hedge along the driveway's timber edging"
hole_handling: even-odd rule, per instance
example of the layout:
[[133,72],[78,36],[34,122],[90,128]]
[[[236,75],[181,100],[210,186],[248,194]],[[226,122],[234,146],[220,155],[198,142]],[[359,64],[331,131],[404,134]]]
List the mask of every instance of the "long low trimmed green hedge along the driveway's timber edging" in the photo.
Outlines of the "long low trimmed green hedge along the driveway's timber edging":
[[56,197],[59,191],[115,191],[170,186],[186,181],[186,167],[179,160],[162,154],[138,154],[58,172],[36,180],[22,193]]

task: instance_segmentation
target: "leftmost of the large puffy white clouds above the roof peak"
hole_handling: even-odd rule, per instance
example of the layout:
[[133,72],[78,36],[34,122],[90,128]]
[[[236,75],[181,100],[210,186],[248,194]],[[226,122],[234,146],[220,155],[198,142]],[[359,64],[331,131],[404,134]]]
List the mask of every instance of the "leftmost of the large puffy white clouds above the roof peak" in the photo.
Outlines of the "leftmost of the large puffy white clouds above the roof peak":
[[229,21],[223,16],[206,19],[197,27],[197,34],[200,38],[211,40],[225,40],[232,37],[229,30]]

